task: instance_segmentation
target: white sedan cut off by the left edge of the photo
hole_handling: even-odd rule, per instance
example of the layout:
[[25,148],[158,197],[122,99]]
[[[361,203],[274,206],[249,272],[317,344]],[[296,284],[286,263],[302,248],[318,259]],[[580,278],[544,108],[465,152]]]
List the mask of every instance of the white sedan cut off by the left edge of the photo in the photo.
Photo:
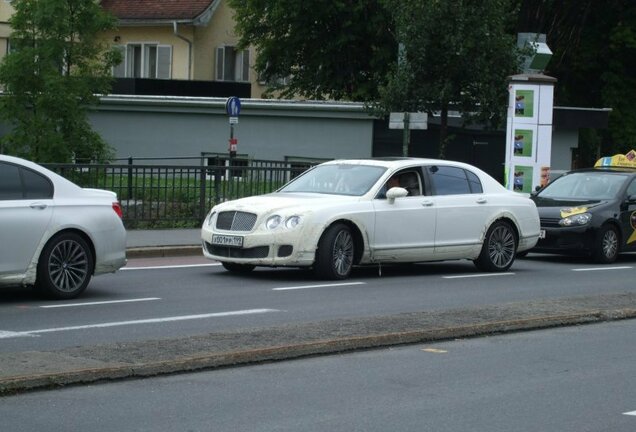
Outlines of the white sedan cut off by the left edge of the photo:
[[46,168],[0,155],[0,286],[81,294],[92,275],[126,264],[114,192],[83,189]]

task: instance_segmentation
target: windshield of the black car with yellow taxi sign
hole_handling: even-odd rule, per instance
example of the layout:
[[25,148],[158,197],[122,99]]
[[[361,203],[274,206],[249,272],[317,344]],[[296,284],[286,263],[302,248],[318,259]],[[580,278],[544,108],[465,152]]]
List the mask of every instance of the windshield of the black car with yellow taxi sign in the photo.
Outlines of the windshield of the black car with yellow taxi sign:
[[615,198],[625,176],[597,172],[563,175],[538,193],[541,198],[599,200]]

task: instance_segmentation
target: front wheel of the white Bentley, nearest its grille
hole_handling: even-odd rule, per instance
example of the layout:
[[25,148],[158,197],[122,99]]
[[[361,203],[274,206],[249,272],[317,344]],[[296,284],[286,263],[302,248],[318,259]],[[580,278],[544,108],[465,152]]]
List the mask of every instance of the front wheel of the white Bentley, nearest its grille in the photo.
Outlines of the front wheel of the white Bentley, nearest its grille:
[[314,273],[323,279],[346,279],[351,274],[354,259],[354,240],[345,224],[327,228],[318,242]]

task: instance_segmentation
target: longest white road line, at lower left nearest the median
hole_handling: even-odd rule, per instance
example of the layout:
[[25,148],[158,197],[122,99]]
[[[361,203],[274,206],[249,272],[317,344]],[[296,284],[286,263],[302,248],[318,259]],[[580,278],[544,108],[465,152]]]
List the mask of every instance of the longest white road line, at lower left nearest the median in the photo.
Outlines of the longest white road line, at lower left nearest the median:
[[56,333],[56,332],[72,331],[72,330],[88,330],[88,329],[94,329],[94,328],[121,327],[121,326],[140,325],[140,324],[161,324],[161,323],[175,322],[175,321],[188,321],[188,320],[206,319],[206,318],[221,318],[221,317],[228,317],[228,316],[262,314],[262,313],[270,313],[270,312],[280,312],[280,310],[278,309],[246,309],[246,310],[229,311],[229,312],[215,312],[215,313],[201,314],[201,315],[181,315],[181,316],[150,318],[150,319],[134,320],[134,321],[115,321],[115,322],[107,322],[107,323],[100,323],[100,324],[87,324],[87,325],[71,326],[71,327],[55,327],[55,328],[40,329],[40,330],[27,330],[23,332],[11,332],[11,331],[0,330],[0,339],[37,336],[44,333]]

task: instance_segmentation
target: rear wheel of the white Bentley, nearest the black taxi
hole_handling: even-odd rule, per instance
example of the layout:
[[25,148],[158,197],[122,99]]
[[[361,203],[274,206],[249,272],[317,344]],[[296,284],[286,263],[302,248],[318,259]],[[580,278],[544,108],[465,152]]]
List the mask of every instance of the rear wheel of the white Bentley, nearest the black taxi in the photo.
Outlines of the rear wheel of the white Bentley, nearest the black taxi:
[[510,268],[517,251],[517,235],[506,221],[493,223],[484,237],[484,244],[475,266],[482,271],[503,272]]

